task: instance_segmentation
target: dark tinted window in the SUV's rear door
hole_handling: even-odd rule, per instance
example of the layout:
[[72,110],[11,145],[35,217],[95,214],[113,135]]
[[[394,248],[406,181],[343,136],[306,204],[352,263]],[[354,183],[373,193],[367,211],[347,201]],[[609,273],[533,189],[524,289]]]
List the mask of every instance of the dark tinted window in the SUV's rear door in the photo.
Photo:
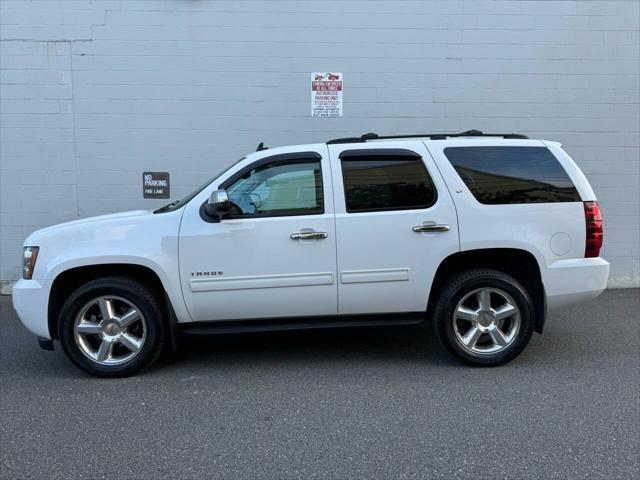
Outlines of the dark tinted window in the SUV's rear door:
[[427,208],[436,194],[418,156],[342,158],[347,212]]

